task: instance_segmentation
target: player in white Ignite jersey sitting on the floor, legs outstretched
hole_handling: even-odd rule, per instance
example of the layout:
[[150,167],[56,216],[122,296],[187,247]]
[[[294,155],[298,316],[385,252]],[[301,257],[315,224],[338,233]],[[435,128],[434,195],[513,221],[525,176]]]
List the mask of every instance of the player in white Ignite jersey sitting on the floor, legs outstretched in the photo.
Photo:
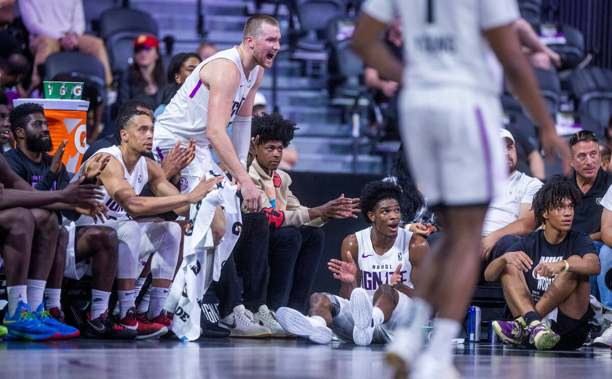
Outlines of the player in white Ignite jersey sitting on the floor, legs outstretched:
[[365,185],[360,208],[372,226],[342,242],[342,260],[327,266],[341,280],[340,296],[310,296],[309,317],[281,307],[276,317],[283,329],[316,343],[329,343],[332,331],[360,346],[394,339],[394,329],[406,318],[414,291],[412,281],[429,249],[421,236],[398,228],[399,186],[382,181]]

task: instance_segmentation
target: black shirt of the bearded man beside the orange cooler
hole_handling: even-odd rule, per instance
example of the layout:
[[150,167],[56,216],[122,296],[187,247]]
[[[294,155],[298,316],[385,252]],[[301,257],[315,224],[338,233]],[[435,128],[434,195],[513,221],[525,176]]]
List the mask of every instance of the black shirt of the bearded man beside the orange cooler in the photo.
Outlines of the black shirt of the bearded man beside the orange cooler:
[[29,159],[20,149],[11,149],[4,153],[4,157],[9,162],[10,168],[34,189],[53,191],[64,189],[70,184],[68,171],[63,163],[58,174],[51,172],[53,157],[46,152],[42,153],[40,162]]

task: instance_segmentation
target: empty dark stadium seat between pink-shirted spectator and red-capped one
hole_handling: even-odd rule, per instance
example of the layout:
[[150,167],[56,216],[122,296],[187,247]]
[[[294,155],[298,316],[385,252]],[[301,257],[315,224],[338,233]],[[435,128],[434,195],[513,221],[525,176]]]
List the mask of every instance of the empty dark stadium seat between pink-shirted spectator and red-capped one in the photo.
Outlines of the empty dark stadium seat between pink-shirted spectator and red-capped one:
[[158,32],[157,22],[141,10],[114,8],[103,12],[100,15],[100,37],[106,41],[113,73],[122,72],[129,66],[136,37],[140,34],[157,37]]

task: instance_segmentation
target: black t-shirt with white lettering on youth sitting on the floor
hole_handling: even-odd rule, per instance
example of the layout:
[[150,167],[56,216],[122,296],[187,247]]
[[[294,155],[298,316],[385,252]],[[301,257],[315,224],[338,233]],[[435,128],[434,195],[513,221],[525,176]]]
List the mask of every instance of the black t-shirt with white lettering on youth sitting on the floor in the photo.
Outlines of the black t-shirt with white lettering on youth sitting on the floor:
[[506,252],[517,251],[529,255],[529,258],[534,263],[531,269],[524,273],[524,276],[527,286],[531,291],[531,296],[533,296],[535,301],[539,301],[544,292],[548,290],[548,286],[553,281],[554,276],[551,278],[536,276],[534,271],[537,266],[540,263],[562,261],[572,255],[578,255],[582,258],[588,253],[595,254],[595,244],[586,233],[570,230],[563,241],[553,245],[547,241],[543,230],[536,230],[524,236],[506,250]]

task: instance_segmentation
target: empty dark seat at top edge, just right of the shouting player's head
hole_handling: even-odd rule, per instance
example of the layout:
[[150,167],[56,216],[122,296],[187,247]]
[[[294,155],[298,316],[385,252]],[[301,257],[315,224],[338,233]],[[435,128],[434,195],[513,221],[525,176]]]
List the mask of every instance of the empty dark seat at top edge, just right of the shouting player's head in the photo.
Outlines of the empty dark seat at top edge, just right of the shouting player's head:
[[297,48],[304,50],[323,50],[327,22],[340,16],[345,11],[345,4],[340,0],[299,0],[297,18],[300,31],[304,37],[297,40]]

